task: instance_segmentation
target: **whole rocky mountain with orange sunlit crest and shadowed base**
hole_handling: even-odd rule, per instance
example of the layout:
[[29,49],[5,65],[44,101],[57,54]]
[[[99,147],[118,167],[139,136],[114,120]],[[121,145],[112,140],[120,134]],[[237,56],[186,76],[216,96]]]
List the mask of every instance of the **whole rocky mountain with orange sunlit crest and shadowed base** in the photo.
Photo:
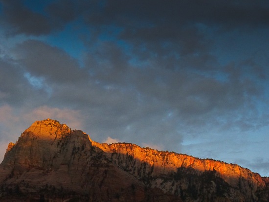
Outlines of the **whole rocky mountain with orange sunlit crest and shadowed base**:
[[1,202],[268,202],[269,178],[213,159],[98,143],[56,120],[9,143]]

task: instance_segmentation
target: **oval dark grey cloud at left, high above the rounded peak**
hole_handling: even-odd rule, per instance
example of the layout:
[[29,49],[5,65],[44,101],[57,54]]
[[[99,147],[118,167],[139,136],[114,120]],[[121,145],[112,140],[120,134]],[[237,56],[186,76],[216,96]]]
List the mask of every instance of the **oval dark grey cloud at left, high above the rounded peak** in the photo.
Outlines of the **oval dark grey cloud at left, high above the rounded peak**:
[[36,40],[27,40],[14,48],[17,62],[34,76],[48,81],[69,83],[87,79],[77,60],[65,51]]

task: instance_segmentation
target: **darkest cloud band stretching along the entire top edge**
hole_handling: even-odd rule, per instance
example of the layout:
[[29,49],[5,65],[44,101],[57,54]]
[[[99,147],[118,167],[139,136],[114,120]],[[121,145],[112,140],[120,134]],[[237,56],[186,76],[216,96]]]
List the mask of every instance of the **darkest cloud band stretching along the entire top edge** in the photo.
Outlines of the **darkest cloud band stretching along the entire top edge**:
[[84,16],[86,22],[95,28],[103,25],[122,27],[122,38],[129,40],[177,39],[182,28],[187,31],[192,27],[195,33],[199,23],[216,25],[224,30],[269,23],[269,3],[266,0],[172,0],[165,3],[161,0],[57,0],[47,3],[42,12],[31,10],[20,0],[1,2],[6,23],[16,33],[30,35],[48,34],[78,16]]

